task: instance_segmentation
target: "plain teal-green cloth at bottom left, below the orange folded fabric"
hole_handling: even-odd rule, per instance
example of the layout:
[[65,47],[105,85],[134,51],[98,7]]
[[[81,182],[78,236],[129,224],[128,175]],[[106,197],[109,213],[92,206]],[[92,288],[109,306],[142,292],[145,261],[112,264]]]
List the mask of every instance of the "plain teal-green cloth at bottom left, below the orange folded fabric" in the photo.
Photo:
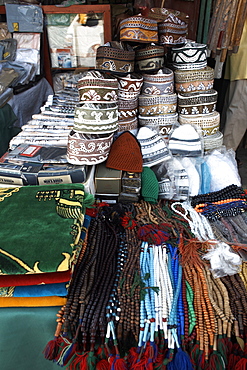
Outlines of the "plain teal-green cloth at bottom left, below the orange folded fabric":
[[0,308],[1,370],[58,370],[42,351],[54,336],[60,307]]

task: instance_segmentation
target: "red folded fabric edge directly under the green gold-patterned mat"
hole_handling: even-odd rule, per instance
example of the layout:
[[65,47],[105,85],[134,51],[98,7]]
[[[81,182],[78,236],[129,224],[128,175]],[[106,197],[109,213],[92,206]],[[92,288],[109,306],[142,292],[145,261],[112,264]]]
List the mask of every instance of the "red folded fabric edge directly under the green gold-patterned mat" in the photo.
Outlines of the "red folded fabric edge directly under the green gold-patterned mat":
[[0,286],[24,286],[35,284],[63,283],[69,281],[72,275],[71,269],[68,271],[47,272],[43,274],[25,275],[0,275]]

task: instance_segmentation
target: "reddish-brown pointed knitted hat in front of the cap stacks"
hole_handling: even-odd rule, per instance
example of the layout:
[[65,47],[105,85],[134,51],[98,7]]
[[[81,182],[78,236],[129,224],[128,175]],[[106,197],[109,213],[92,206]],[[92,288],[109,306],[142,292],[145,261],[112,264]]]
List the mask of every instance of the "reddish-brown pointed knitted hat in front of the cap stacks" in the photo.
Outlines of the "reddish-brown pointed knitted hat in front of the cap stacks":
[[142,172],[141,147],[134,135],[123,132],[113,142],[106,167],[128,172]]

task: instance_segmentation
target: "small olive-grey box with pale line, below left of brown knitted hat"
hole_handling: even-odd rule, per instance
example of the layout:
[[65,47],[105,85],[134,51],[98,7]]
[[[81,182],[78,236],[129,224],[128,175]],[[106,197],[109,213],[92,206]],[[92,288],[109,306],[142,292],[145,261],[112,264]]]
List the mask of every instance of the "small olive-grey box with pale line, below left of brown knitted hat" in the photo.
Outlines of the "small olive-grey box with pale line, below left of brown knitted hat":
[[104,163],[96,166],[95,189],[99,194],[119,194],[121,191],[122,171],[107,168]]

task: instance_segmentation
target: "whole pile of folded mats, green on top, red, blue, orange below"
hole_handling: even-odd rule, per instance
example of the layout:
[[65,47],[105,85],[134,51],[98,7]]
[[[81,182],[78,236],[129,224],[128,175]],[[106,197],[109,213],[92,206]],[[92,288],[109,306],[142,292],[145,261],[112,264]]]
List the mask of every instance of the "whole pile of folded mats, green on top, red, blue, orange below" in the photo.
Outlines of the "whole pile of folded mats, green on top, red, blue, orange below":
[[0,192],[4,223],[0,306],[63,306],[90,222],[85,210],[93,197],[81,184],[5,188]]

